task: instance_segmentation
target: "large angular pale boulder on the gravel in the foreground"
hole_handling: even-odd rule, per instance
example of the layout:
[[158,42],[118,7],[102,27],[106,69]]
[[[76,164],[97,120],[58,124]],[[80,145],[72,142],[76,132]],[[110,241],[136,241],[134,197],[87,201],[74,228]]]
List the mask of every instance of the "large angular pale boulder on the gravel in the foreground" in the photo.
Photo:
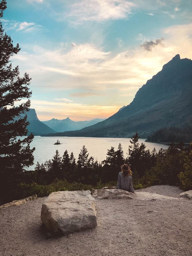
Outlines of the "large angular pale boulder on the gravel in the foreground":
[[42,204],[41,220],[54,233],[69,233],[97,226],[95,199],[89,190],[51,193]]

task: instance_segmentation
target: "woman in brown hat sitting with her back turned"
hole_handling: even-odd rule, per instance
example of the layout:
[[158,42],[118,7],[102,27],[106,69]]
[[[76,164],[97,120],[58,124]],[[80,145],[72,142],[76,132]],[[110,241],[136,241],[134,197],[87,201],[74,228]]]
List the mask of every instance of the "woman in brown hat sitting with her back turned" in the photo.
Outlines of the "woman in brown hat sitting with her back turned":
[[132,193],[134,192],[132,183],[132,172],[128,164],[121,165],[121,172],[118,174],[118,181],[116,189],[123,189]]

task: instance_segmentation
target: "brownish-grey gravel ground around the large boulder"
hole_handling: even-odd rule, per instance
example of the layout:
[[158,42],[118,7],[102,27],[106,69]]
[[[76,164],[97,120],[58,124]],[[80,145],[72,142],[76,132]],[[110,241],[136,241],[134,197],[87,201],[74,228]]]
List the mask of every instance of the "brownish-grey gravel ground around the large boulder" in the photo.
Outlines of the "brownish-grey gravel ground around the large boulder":
[[[182,192],[171,186],[139,191]],[[192,200],[96,199],[95,229],[51,238],[40,219],[44,199],[0,210],[0,255],[192,256]]]

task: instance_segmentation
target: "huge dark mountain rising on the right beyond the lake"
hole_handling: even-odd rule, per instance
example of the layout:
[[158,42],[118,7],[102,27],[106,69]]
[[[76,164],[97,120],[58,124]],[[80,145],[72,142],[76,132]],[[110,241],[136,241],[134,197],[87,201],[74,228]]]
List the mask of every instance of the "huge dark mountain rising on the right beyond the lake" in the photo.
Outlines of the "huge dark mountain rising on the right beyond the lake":
[[192,125],[192,61],[177,54],[136,93],[133,101],[105,121],[60,136],[130,137],[162,127]]

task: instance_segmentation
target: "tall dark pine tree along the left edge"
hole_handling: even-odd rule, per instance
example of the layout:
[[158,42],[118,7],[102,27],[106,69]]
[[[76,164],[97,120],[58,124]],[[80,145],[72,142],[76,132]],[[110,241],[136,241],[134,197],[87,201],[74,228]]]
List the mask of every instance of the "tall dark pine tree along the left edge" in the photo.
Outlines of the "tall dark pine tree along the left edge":
[[[6,1],[0,3],[0,18],[6,9]],[[5,195],[3,200],[10,200],[16,184],[20,180],[24,168],[33,164],[33,151],[30,143],[33,135],[18,139],[17,136],[27,135],[27,116],[20,114],[29,110],[31,92],[29,84],[31,78],[27,73],[19,77],[18,66],[12,68],[10,57],[20,51],[19,45],[13,45],[12,39],[4,33],[0,22],[0,193]],[[25,103],[15,107],[21,99],[28,99]],[[7,197],[7,199],[5,199]]]

